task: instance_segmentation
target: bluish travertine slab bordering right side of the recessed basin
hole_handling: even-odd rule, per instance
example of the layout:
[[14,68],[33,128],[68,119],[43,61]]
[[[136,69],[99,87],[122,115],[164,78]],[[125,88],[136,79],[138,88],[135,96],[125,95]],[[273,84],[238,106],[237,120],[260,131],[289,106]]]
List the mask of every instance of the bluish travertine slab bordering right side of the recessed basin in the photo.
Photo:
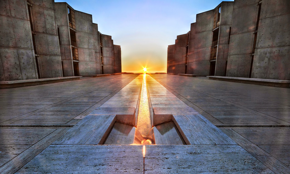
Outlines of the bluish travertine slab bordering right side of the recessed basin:
[[236,144],[200,114],[173,115],[172,119],[188,145]]

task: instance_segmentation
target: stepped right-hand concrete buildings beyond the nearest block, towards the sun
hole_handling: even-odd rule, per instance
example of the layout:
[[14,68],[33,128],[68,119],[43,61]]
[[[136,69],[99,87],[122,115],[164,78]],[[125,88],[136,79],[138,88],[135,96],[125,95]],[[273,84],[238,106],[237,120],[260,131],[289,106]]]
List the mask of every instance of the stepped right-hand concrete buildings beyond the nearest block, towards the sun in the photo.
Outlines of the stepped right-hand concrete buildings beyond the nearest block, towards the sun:
[[[171,69],[179,66],[174,73],[204,76],[225,74],[232,12],[233,2],[223,1],[215,9],[196,15],[196,22],[191,24],[190,31],[185,34],[187,37],[181,41],[177,36],[177,40],[183,45],[175,47],[182,47],[179,50],[182,49],[183,54],[175,54],[174,63],[168,54],[168,62],[174,64]],[[170,48],[168,46],[168,49]]]

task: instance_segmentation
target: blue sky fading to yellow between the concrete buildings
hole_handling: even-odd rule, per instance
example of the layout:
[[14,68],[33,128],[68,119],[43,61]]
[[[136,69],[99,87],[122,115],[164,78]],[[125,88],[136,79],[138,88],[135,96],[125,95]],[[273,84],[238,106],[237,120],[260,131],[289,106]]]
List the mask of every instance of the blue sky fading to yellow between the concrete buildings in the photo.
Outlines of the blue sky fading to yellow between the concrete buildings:
[[[229,0],[228,0],[229,1]],[[64,2],[55,0],[55,2]],[[122,71],[166,72],[167,46],[190,30],[196,14],[221,0],[66,0],[75,10],[93,15],[99,31],[121,45]]]

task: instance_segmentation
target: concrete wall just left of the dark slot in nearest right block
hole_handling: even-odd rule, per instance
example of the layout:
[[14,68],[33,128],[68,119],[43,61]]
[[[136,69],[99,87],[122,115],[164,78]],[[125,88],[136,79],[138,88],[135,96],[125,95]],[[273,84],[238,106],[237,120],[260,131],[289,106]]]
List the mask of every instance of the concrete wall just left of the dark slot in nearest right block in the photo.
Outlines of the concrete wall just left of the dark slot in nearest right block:
[[236,0],[226,76],[249,77],[258,0]]

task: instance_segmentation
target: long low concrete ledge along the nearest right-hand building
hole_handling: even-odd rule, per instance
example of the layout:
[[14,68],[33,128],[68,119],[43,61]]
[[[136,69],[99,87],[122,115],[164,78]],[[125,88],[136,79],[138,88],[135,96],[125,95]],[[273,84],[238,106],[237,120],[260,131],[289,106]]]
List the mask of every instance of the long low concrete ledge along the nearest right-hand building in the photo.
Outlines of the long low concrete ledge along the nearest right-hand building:
[[275,79],[254,79],[254,78],[243,78],[243,77],[223,77],[223,76],[206,76],[212,80],[222,80],[222,81],[231,81],[238,83],[247,83],[255,85],[264,85],[264,86],[275,86],[282,88],[289,88],[289,80],[275,80]]

